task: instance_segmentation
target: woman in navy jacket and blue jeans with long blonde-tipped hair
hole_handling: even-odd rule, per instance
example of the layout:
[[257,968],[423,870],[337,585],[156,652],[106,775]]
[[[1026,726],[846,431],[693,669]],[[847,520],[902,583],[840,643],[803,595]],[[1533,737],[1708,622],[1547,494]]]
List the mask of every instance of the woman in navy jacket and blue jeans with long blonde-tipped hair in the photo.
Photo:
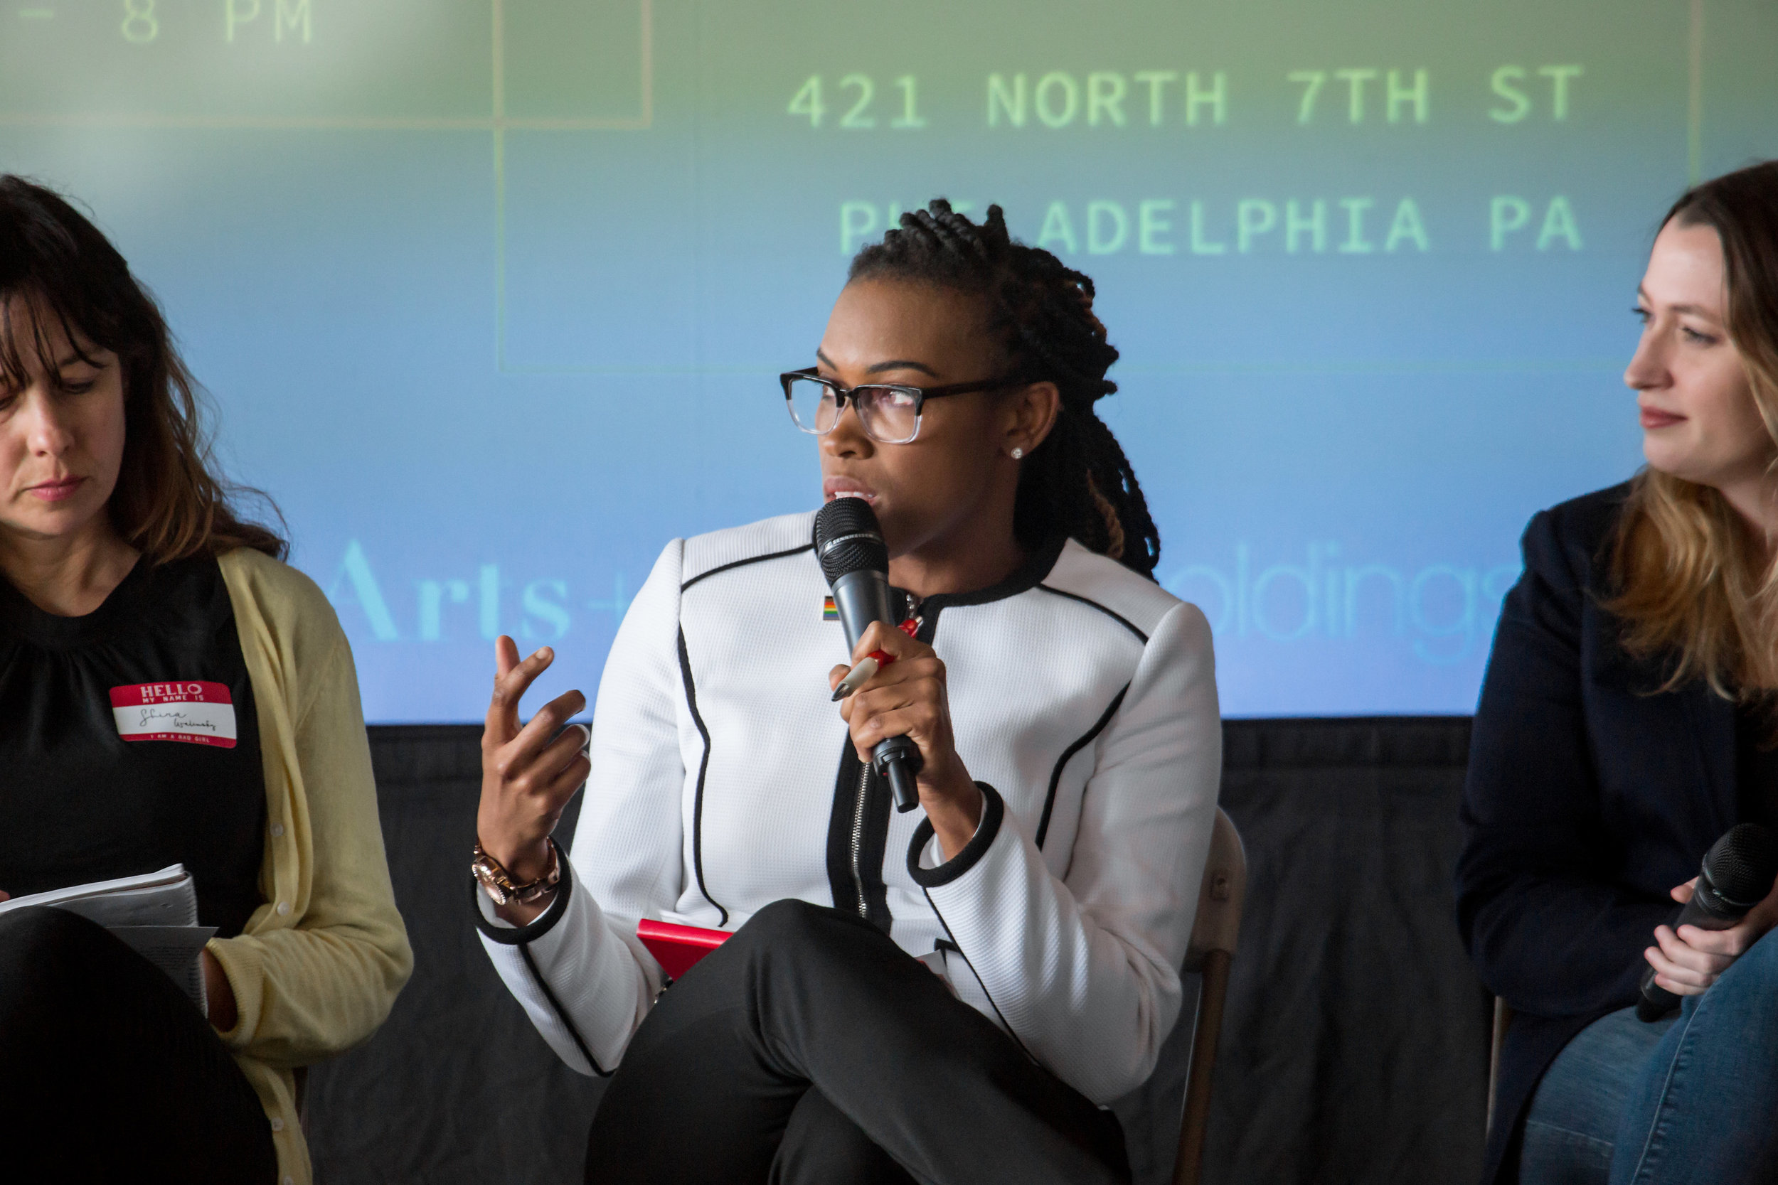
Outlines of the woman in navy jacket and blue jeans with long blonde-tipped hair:
[[[1778,901],[1671,929],[1778,815],[1778,162],[1680,199],[1638,314],[1648,469],[1531,521],[1476,714],[1458,922],[1515,1009],[1490,1181],[1778,1180]],[[1657,1023],[1648,966],[1686,1000]]]

